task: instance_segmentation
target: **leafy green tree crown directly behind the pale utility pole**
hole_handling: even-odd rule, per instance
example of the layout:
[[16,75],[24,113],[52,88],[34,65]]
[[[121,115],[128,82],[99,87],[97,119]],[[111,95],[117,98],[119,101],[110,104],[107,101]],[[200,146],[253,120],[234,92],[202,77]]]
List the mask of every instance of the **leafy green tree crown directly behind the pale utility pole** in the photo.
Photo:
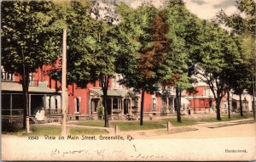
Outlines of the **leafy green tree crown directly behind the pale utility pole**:
[[[96,36],[96,20],[90,17],[88,1],[55,2],[52,14],[56,20],[49,30],[57,33],[67,29],[67,83],[86,87],[90,80],[92,36]],[[52,70],[51,77],[61,81],[61,69]]]

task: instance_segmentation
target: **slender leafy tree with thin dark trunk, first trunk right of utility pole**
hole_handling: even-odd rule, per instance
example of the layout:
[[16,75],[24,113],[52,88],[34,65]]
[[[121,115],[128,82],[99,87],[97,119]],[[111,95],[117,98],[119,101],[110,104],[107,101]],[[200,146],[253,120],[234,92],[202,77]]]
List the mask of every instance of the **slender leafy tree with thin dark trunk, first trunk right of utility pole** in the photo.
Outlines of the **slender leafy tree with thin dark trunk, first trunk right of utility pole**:
[[101,81],[103,92],[103,106],[105,126],[108,127],[108,81],[115,73],[115,59],[119,52],[118,31],[115,26],[103,26],[99,31],[101,38],[96,40],[96,49],[93,53],[94,66],[91,67],[91,77]]

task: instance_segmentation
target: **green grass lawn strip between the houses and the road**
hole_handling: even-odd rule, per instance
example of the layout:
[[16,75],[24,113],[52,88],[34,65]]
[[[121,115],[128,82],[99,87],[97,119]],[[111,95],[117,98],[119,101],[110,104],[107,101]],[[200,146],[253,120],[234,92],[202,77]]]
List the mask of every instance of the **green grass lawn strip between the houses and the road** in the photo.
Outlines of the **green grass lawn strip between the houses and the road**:
[[[207,119],[195,119],[195,118],[184,118],[182,117],[182,122],[177,122],[177,117],[170,117],[162,120],[153,121],[143,121],[143,126],[140,126],[139,120],[136,121],[109,121],[110,127],[118,126],[121,131],[137,131],[137,130],[152,130],[166,128],[166,123],[169,121],[172,126],[193,126],[199,122],[219,122],[219,121],[230,121],[230,120],[242,120],[253,118],[252,114],[244,114],[241,116],[239,114],[231,114],[231,118],[228,115],[222,115],[221,120],[217,120],[216,117],[209,117]],[[104,127],[104,120],[98,121],[79,121],[74,123],[74,125],[79,126],[98,126]],[[22,126],[4,126],[2,125],[3,134],[15,135],[15,136],[60,136],[61,126],[43,126],[43,125],[32,125],[31,133],[26,134],[26,131],[22,129]],[[108,131],[96,128],[78,128],[71,127],[69,129],[70,135],[99,135],[108,134]]]

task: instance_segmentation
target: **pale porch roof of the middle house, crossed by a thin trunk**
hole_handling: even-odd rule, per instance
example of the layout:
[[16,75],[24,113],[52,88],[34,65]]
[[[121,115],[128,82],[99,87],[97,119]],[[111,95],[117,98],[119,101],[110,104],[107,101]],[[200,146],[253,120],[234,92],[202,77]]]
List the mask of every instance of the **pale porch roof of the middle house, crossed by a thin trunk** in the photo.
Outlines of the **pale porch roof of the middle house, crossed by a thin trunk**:
[[[96,95],[103,95],[102,89],[90,88],[89,91],[95,93]],[[108,96],[130,97],[131,94],[128,92],[128,90],[125,89],[111,89],[108,90]]]

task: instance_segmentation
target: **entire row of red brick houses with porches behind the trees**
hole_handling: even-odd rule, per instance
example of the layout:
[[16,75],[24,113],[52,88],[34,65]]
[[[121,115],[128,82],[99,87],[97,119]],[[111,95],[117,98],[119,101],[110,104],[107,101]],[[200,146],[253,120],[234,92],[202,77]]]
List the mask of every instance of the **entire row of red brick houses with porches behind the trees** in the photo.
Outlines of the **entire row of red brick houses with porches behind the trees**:
[[[30,75],[29,87],[29,115],[34,116],[38,109],[45,109],[47,115],[61,115],[61,83],[55,81],[49,74],[52,70],[60,69],[60,60],[53,65],[44,65]],[[2,115],[23,115],[22,87],[20,75],[9,74],[1,67],[2,76]],[[141,94],[119,84],[122,75],[115,74],[108,85],[108,115],[116,119],[119,115],[133,114],[139,116]],[[81,119],[86,116],[97,118],[97,109],[102,103],[102,89],[100,81],[90,83],[85,88],[73,83],[67,86],[67,114],[68,119]],[[221,107],[227,107],[223,98]],[[144,98],[144,114],[173,115],[175,114],[175,91],[172,88],[168,96],[163,94],[146,93]],[[197,85],[195,93],[183,92],[182,111],[191,109],[194,112],[208,112],[214,107],[211,90],[206,85]]]

